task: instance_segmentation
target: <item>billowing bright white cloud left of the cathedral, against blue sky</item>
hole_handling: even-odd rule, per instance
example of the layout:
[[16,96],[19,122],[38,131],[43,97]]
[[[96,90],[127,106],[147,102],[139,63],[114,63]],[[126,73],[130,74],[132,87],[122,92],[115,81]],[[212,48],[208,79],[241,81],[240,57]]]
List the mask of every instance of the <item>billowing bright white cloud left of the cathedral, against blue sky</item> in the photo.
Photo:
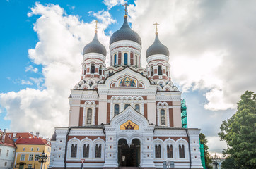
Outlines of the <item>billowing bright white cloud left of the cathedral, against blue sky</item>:
[[[0,104],[6,108],[6,120],[11,120],[12,131],[39,131],[50,137],[54,127],[67,126],[70,89],[79,82],[83,46],[91,42],[95,25],[81,22],[76,15],[67,15],[58,5],[36,3],[28,16],[40,15],[34,24],[39,42],[29,49],[31,61],[42,65],[42,78],[30,77],[23,83],[36,84],[38,89],[0,94]],[[95,15],[101,20],[98,38],[105,46],[109,38],[105,27],[112,22],[111,15]],[[107,20],[105,22],[105,20]],[[92,21],[93,22],[93,21]],[[35,70],[28,66],[26,70]]]

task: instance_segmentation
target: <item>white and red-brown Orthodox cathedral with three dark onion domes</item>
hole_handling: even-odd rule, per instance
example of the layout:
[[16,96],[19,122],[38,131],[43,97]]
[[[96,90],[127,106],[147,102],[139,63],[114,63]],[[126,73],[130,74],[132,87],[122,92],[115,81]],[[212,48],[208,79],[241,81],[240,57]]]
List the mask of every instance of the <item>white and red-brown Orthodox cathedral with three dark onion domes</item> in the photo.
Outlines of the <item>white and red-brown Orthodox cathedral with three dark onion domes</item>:
[[82,162],[83,168],[163,168],[166,161],[202,168],[200,130],[182,128],[182,92],[171,81],[169,51],[157,28],[143,68],[141,37],[129,27],[126,8],[110,37],[109,67],[106,54],[96,25],[69,96],[69,127],[52,135],[50,168],[81,168]]

